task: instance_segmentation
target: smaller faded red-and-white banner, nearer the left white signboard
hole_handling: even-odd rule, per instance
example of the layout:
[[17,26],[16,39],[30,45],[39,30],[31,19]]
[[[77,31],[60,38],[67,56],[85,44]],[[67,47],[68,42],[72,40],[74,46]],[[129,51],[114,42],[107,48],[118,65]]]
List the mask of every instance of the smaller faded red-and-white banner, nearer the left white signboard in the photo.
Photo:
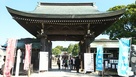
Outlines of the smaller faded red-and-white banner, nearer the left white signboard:
[[25,44],[24,70],[28,70],[31,64],[31,51],[32,51],[32,44]]

